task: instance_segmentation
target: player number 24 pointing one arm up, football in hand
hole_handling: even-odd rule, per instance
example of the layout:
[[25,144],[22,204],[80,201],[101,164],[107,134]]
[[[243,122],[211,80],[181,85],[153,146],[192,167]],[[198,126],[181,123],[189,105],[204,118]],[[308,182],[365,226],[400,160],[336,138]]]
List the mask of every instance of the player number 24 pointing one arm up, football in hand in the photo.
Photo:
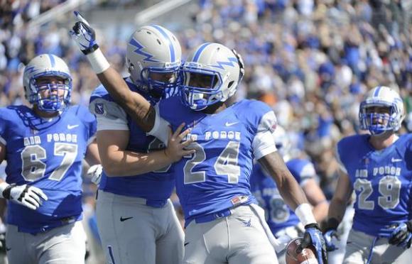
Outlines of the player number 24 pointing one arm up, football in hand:
[[320,263],[326,262],[325,241],[311,207],[276,152],[273,111],[260,101],[229,104],[244,73],[237,53],[218,43],[198,46],[180,67],[180,96],[153,107],[129,89],[99,50],[87,21],[78,13],[77,19],[72,38],[104,87],[143,131],[167,142],[169,126],[176,129],[183,121],[192,129],[188,138],[195,141],[190,147],[196,153],[175,163],[186,226],[183,263],[277,263],[273,246],[278,242],[250,192],[254,158],[296,209],[306,228],[301,246],[313,244]]

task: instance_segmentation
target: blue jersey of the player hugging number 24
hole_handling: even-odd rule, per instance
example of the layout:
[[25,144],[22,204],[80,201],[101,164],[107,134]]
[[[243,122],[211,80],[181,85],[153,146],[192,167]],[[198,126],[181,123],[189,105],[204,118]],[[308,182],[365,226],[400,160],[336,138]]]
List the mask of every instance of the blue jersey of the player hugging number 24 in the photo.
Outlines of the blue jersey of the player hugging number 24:
[[[138,92],[151,101],[151,97],[141,92],[129,79],[126,79],[126,83],[131,91]],[[151,101],[151,104],[155,104],[155,102]],[[129,143],[126,150],[148,153],[149,150],[164,148],[161,141],[154,136],[147,136],[146,132],[142,131],[131,120],[131,117],[114,102],[102,85],[97,87],[90,97],[90,111],[97,116],[98,130],[129,130]],[[116,125],[116,123],[119,124]],[[147,199],[147,205],[152,207],[163,207],[174,187],[175,178],[172,165],[156,172],[127,177],[108,177],[103,171],[99,185],[99,189],[104,190],[104,192]]]

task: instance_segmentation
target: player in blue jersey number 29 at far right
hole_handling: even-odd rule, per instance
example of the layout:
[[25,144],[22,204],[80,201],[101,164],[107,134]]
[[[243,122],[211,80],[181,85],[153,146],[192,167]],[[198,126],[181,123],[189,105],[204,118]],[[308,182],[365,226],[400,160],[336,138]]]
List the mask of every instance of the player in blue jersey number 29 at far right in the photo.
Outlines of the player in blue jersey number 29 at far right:
[[341,175],[328,212],[329,250],[354,190],[354,220],[343,263],[409,263],[412,251],[412,136],[397,136],[405,113],[399,94],[379,86],[359,108],[361,128],[370,134],[337,143]]

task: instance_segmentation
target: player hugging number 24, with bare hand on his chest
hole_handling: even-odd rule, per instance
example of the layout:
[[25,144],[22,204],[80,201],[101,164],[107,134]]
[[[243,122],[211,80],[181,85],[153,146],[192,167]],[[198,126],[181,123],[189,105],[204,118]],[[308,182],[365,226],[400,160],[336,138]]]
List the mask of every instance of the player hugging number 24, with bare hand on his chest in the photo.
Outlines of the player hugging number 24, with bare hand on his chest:
[[[156,104],[178,83],[181,53],[166,28],[139,28],[127,42],[129,89]],[[146,135],[102,85],[92,93],[90,111],[104,168],[96,213],[107,262],[181,263],[184,234],[168,198],[175,187],[171,163],[193,153],[183,149],[191,141],[180,144],[188,131],[179,135],[180,126],[159,150],[164,144]]]

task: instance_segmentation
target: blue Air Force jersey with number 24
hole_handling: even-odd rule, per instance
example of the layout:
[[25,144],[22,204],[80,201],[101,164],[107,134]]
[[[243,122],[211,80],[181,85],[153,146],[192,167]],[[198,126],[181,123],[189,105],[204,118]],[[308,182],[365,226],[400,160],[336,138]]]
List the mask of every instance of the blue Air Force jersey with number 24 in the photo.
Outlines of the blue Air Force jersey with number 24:
[[191,147],[197,152],[175,163],[175,170],[182,172],[176,177],[176,189],[186,223],[256,202],[249,185],[253,160],[256,153],[261,158],[276,150],[274,143],[266,149],[261,147],[256,136],[266,132],[270,135],[276,126],[269,106],[261,101],[242,100],[218,114],[208,115],[183,106],[180,97],[170,97],[161,101],[157,110],[173,131],[185,122],[186,128],[192,128],[189,136],[195,139]]

